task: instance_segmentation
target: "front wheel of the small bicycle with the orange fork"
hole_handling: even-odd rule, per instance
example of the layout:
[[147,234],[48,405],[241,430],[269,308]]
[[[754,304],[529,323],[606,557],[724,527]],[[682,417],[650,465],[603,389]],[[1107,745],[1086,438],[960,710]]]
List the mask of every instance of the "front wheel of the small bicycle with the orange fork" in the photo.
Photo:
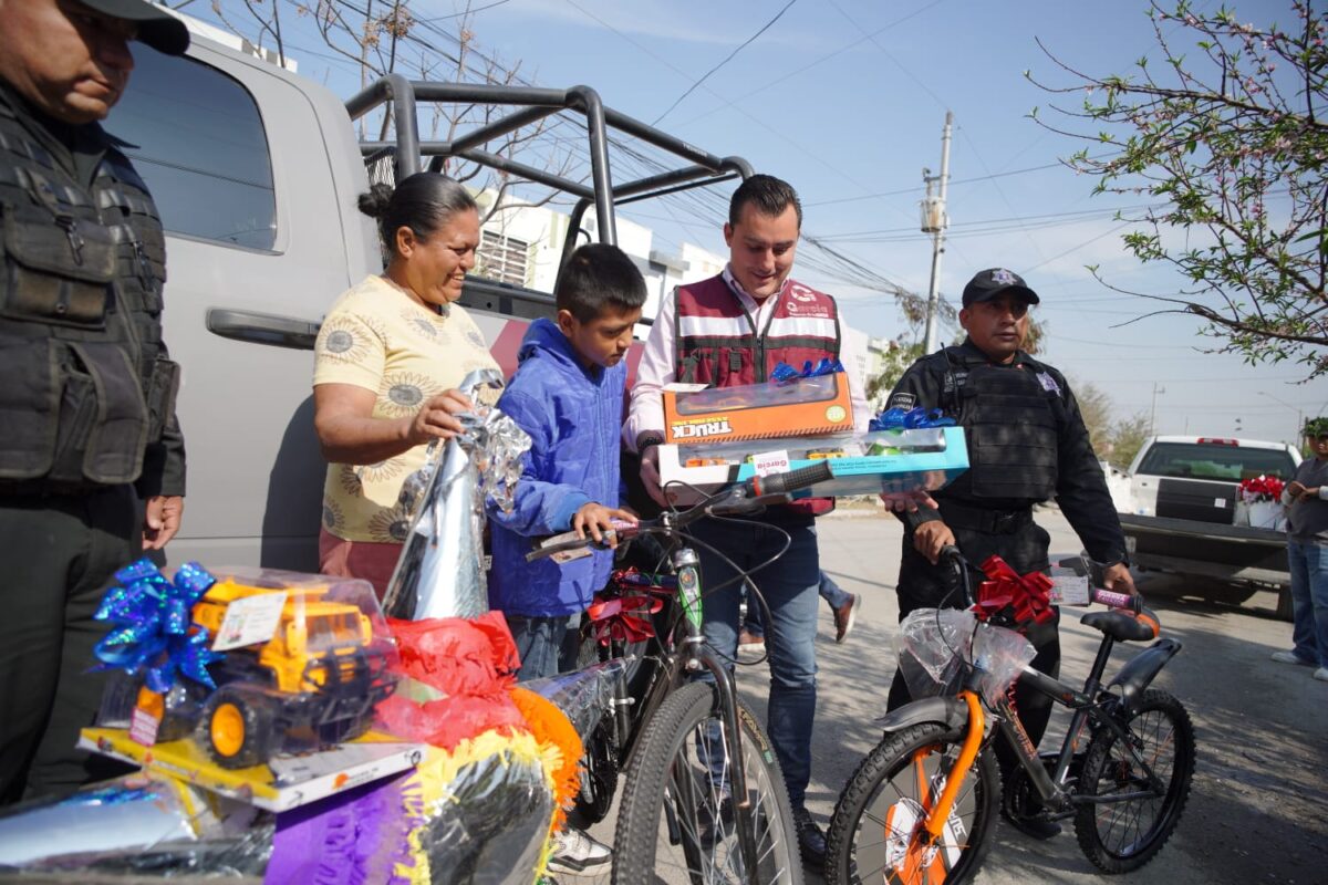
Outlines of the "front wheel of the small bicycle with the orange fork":
[[[943,836],[944,851],[936,851],[928,862],[918,844],[926,817],[919,812],[940,795],[938,772],[954,764],[963,740],[961,730],[927,722],[887,734],[867,754],[830,820],[825,869],[830,885],[952,885],[972,878],[991,849],[1001,792],[1000,770],[989,750],[977,754],[964,780]],[[919,784],[919,774],[926,785]],[[890,827],[898,828],[892,839],[886,833]]]

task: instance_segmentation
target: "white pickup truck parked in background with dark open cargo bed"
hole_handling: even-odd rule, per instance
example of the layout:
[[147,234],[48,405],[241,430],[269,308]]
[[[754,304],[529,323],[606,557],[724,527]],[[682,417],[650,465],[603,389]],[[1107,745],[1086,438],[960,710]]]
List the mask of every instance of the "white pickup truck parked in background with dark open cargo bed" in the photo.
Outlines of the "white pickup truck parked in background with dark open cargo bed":
[[1289,482],[1299,463],[1300,452],[1283,443],[1150,438],[1130,464],[1129,484],[1113,488],[1130,560],[1143,572],[1212,579],[1203,592],[1216,601],[1243,602],[1256,589],[1274,589],[1278,616],[1291,620],[1286,532],[1251,527],[1238,504],[1240,480]]

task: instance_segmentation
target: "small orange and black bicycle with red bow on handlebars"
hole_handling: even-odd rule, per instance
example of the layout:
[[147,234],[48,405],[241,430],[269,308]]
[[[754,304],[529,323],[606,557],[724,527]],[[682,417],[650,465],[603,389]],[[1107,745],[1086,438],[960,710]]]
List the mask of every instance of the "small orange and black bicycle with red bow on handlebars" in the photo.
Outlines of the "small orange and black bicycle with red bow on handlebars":
[[[961,573],[959,586],[971,604],[968,564],[952,547],[943,557]],[[1181,820],[1194,774],[1190,715],[1174,697],[1149,687],[1181,644],[1158,638],[1157,616],[1139,597],[1094,590],[1094,601],[1121,608],[1082,618],[1102,633],[1082,690],[1023,661],[997,673],[999,650],[1013,647],[1009,628],[1017,626],[1008,610],[985,622],[948,610],[959,618],[946,618],[944,629],[940,609],[910,616],[923,628],[931,626],[923,618],[936,622],[938,629],[918,636],[923,657],[939,665],[932,675],[940,694],[884,718],[883,739],[839,796],[826,858],[831,885],[969,881],[1003,804],[1016,820],[1073,819],[1080,848],[1108,873],[1138,869],[1157,854]],[[1117,642],[1150,640],[1104,685]],[[1058,751],[1037,754],[1009,697],[1015,681],[1073,711]],[[1020,762],[1004,789],[992,746],[997,734]]]

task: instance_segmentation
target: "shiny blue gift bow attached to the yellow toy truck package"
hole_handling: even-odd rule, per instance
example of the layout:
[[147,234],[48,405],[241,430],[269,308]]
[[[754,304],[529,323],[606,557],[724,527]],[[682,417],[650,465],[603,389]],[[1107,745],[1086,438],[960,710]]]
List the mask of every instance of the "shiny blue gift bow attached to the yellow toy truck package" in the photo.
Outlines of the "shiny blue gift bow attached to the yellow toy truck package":
[[141,559],[116,572],[116,580],[120,585],[106,592],[93,616],[118,628],[93,649],[97,669],[142,673],[147,687],[161,694],[177,673],[215,689],[207,665],[223,655],[207,647],[207,629],[193,624],[193,609],[216,579],[198,563],[186,563],[166,580],[151,560]]

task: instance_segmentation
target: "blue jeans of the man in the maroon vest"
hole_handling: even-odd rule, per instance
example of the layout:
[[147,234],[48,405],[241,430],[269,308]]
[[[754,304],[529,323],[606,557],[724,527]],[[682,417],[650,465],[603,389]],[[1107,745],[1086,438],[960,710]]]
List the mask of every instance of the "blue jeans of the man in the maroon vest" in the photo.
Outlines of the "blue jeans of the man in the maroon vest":
[[[705,641],[720,655],[737,658],[738,604],[742,582],[733,581],[718,592],[720,584],[734,577],[733,565],[746,571],[761,565],[784,547],[788,552],[773,564],[752,575],[770,608],[765,644],[770,663],[770,701],[766,732],[780,758],[789,801],[801,808],[811,779],[811,720],[817,711],[817,588],[821,564],[817,529],[810,516],[773,511],[761,519],[714,520],[696,524],[693,535],[701,557],[701,588],[705,609]],[[725,557],[703,547],[708,544]],[[756,600],[750,601],[756,604]]]

